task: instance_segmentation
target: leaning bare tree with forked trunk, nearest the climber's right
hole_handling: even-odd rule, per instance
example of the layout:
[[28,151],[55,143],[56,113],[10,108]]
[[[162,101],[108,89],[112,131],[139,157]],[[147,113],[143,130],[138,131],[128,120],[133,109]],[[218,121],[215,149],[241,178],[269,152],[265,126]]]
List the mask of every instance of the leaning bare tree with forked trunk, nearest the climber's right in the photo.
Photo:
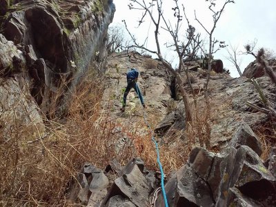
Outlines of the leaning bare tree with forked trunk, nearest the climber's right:
[[[139,20],[139,26],[141,23],[143,23],[146,15],[148,15],[152,21],[152,23],[155,26],[155,43],[157,46],[157,50],[150,50],[145,46],[145,43],[138,43],[137,39],[131,34],[131,32],[128,30],[126,21],[124,23],[126,24],[126,29],[128,30],[128,33],[130,34],[130,37],[132,38],[132,41],[134,42],[133,47],[140,48],[142,50],[146,50],[148,52],[151,52],[155,55],[157,55],[160,59],[160,61],[164,64],[170,72],[172,72],[173,75],[175,75],[177,79],[177,83],[179,85],[179,89],[181,92],[181,95],[183,97],[184,101],[184,107],[185,107],[185,112],[186,112],[186,121],[188,123],[193,122],[193,116],[192,116],[192,111],[190,109],[190,103],[188,101],[188,95],[187,92],[184,88],[184,83],[181,79],[181,75],[179,74],[181,68],[185,68],[184,66],[184,57],[194,57],[199,50],[199,44],[201,41],[199,41],[199,34],[195,33],[195,28],[193,26],[190,26],[188,23],[188,29],[186,30],[186,41],[180,41],[179,40],[179,32],[181,30],[181,21],[183,17],[181,16],[181,8],[179,8],[177,0],[174,0],[175,7],[172,8],[174,10],[174,17],[175,17],[175,26],[172,26],[172,23],[164,17],[164,11],[162,8],[163,1],[162,0],[152,0],[150,3],[146,3],[144,0],[130,0],[129,8],[132,10],[141,10],[143,12],[141,19]],[[154,12],[157,13],[157,16],[154,16]],[[184,7],[183,7],[183,12],[185,12]],[[186,16],[186,15],[185,15]],[[187,19],[188,20],[188,19]],[[160,42],[159,42],[159,32],[160,30],[163,29],[170,36],[172,37],[173,43],[170,45],[167,45],[168,48],[174,48],[174,50],[177,52],[178,58],[179,58],[179,70],[174,70],[170,63],[164,59],[160,47]],[[195,41],[197,40],[197,41]],[[188,75],[188,70],[185,70],[186,76],[188,79],[188,84],[190,86],[190,89],[193,90],[193,87],[190,82],[190,77]],[[189,124],[187,124],[189,126]]]

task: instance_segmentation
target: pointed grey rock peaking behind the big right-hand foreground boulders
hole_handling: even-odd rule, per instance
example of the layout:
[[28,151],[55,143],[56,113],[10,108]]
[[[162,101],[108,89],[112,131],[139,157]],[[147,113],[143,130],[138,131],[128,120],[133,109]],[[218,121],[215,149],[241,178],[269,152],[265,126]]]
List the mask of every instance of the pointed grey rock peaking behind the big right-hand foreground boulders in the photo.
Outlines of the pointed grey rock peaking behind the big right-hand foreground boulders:
[[228,146],[233,146],[234,148],[239,148],[241,145],[249,146],[257,155],[262,155],[262,145],[259,138],[251,130],[250,126],[244,122],[239,126],[234,137],[228,143]]

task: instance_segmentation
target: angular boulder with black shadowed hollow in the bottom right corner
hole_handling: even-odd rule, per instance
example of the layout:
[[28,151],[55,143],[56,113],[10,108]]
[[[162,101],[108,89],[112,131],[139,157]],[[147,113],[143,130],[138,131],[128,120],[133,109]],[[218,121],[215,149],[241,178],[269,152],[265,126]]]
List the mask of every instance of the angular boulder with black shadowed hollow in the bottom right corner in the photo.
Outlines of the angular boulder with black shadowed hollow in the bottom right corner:
[[[232,151],[232,152],[231,152]],[[262,159],[248,146],[240,146],[228,153],[226,168],[219,184],[216,206],[227,206],[233,202],[234,186],[243,197],[253,199],[264,206],[275,205],[275,177],[264,166]],[[235,197],[239,197],[234,192]]]

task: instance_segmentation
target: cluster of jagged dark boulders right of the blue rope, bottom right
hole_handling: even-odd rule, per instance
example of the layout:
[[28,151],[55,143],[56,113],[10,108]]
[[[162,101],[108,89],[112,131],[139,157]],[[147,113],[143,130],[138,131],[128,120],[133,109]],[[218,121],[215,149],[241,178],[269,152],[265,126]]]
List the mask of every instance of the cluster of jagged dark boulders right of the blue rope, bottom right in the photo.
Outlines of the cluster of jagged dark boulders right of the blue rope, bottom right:
[[[243,128],[244,126],[241,126]],[[239,137],[242,138],[242,135]],[[237,146],[235,135],[231,143]],[[256,140],[258,141],[258,140]],[[245,143],[250,145],[250,143]],[[275,206],[276,179],[252,148],[194,148],[166,184],[169,206]],[[164,206],[161,195],[157,206]]]

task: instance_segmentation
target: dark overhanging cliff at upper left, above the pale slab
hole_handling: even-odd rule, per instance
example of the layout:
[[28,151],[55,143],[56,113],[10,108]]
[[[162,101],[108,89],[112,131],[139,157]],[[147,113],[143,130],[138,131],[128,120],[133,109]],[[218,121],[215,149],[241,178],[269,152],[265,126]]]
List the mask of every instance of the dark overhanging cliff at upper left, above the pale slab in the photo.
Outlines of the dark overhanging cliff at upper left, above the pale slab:
[[[1,75],[11,77],[26,70],[39,105],[62,87],[61,81],[74,87],[93,60],[103,62],[108,24],[115,12],[112,1],[4,2],[8,4],[0,11],[5,14],[3,35],[17,48],[7,59],[1,53],[9,49],[1,47]],[[2,36],[0,40],[7,44]]]

